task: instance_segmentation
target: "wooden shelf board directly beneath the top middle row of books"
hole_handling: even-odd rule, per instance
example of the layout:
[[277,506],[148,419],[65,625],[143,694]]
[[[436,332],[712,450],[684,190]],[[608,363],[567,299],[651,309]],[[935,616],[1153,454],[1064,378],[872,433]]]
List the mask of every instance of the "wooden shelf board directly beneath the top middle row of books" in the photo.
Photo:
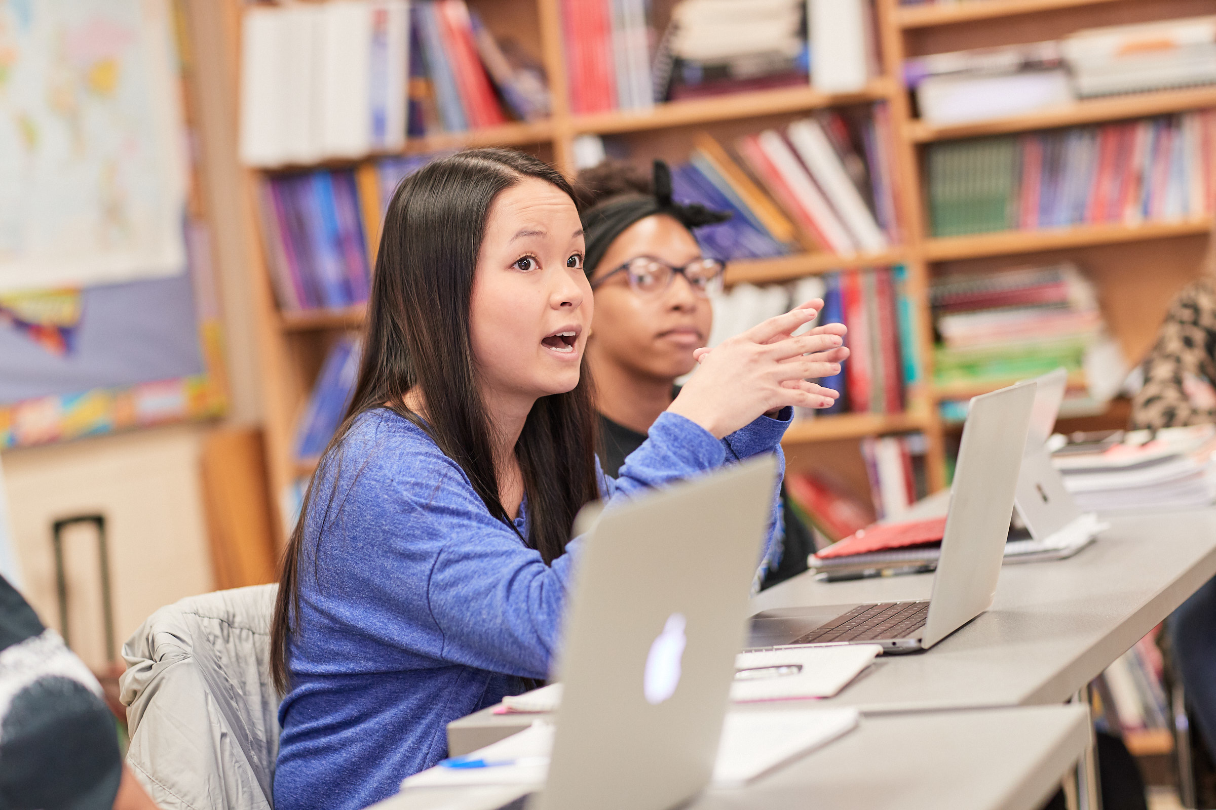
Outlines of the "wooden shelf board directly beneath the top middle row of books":
[[643,132],[674,126],[857,104],[889,98],[893,92],[895,92],[895,85],[886,79],[874,80],[861,92],[851,94],[827,94],[814,87],[782,87],[733,96],[672,101],[655,104],[653,111],[644,113],[614,112],[575,115],[570,119],[570,126],[575,134]]

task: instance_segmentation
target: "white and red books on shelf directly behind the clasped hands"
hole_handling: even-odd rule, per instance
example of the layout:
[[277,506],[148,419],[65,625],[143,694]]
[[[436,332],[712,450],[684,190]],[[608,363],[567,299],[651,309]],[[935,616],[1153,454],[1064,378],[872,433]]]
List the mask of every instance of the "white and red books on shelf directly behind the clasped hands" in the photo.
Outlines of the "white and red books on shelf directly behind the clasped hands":
[[851,350],[839,374],[820,380],[840,392],[837,404],[820,413],[901,413],[907,387],[918,380],[912,302],[902,266],[850,270],[804,278],[795,284],[736,284],[714,301],[710,346],[761,321],[787,312],[796,304],[823,299],[816,323],[849,327]]

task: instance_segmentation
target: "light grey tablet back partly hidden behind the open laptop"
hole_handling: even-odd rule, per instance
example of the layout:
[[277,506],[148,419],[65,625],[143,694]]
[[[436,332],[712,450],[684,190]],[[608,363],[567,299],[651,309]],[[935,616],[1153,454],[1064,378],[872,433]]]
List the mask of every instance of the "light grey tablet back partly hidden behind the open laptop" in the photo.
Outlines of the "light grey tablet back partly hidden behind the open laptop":
[[1064,488],[1064,476],[1052,465],[1051,453],[1047,452],[1047,440],[1064,402],[1068,370],[1058,368],[1032,381],[1036,384],[1035,404],[1013,504],[1030,536],[1046,540],[1081,517],[1081,510]]

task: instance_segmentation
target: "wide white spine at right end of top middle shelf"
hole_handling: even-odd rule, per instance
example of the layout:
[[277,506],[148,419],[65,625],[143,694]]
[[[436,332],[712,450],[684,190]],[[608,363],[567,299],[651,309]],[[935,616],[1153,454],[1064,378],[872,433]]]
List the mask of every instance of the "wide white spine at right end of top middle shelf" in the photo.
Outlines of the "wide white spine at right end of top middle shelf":
[[811,84],[823,92],[857,92],[869,81],[866,56],[868,0],[807,0]]

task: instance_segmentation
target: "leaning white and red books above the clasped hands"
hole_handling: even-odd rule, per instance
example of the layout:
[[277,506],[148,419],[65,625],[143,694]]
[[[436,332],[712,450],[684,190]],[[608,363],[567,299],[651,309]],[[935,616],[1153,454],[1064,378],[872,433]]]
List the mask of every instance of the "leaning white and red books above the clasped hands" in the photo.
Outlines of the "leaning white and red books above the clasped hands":
[[736,142],[753,175],[812,250],[880,253],[899,242],[886,106],[846,118],[826,111]]

